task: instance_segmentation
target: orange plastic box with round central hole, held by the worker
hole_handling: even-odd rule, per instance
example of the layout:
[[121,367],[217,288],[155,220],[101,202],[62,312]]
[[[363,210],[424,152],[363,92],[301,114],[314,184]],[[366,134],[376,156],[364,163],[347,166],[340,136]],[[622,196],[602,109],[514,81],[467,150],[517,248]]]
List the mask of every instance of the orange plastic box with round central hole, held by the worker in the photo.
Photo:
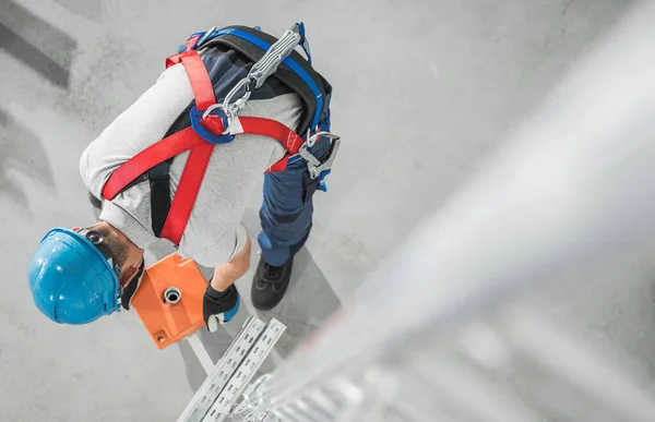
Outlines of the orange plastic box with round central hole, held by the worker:
[[145,270],[132,299],[153,341],[164,349],[205,324],[202,297],[207,281],[192,260],[172,253]]

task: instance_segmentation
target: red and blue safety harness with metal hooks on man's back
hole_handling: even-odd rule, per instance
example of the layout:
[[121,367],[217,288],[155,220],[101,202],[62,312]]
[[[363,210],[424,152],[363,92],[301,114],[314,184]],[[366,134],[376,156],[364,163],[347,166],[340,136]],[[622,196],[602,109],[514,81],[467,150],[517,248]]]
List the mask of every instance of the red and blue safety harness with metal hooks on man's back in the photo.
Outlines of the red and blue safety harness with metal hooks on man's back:
[[[201,53],[217,45],[227,46],[254,63],[248,76],[234,86],[222,104],[216,101],[214,86],[201,58]],[[298,45],[307,52],[307,60],[295,51]],[[195,106],[190,110],[191,125],[151,145],[116,169],[103,189],[103,197],[111,201],[135,182],[150,180],[153,232],[177,245],[214,147],[233,142],[239,134],[269,136],[285,147],[285,156],[266,172],[283,171],[288,162],[305,159],[310,178],[318,179],[323,185],[323,178],[336,156],[340,137],[330,133],[332,87],[311,67],[302,23],[294,25],[279,39],[257,27],[245,26],[213,27],[192,34],[177,55],[166,59],[166,68],[178,63],[184,67],[195,99]],[[238,116],[252,92],[270,76],[277,77],[303,101],[303,113],[295,131],[275,120]],[[241,97],[233,103],[241,93]],[[321,140],[330,142],[330,148],[319,159],[308,148]],[[170,164],[175,156],[187,150],[189,157],[171,202]]]

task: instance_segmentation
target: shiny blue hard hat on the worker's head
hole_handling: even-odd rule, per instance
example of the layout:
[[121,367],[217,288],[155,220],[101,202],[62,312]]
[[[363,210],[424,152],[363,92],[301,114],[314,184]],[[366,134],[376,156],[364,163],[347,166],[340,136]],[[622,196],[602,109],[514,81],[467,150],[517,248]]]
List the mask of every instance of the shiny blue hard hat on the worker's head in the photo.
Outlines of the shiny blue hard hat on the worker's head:
[[[59,324],[87,324],[120,308],[120,268],[97,232],[50,230],[29,263],[34,303]],[[104,248],[106,252],[106,248]]]

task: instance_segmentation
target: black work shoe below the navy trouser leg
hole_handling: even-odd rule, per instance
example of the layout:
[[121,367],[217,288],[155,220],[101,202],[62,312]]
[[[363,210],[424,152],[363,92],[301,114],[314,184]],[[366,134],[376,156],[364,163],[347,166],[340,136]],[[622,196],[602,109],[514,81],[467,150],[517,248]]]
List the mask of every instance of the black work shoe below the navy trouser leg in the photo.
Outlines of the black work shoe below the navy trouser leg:
[[250,291],[254,308],[269,311],[277,306],[287,287],[289,287],[293,267],[294,258],[290,258],[281,267],[274,267],[266,264],[263,257],[260,257]]

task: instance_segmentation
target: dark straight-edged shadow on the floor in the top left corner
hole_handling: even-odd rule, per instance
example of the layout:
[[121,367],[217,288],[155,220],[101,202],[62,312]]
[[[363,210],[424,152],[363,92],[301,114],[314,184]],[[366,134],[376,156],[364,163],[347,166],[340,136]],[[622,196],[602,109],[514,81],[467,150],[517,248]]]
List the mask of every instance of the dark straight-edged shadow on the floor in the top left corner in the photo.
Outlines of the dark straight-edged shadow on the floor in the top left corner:
[[0,2],[0,48],[52,84],[69,88],[76,40],[12,0]]

